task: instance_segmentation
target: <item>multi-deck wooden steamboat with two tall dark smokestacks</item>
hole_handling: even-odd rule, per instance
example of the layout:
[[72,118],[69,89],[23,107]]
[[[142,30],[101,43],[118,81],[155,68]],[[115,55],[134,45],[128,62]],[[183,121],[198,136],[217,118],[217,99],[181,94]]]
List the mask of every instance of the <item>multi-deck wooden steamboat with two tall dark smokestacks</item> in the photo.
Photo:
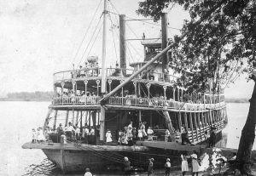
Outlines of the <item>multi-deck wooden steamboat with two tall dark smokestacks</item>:
[[[144,38],[143,61],[126,64],[125,15],[119,15],[119,65],[107,67],[106,20],[110,13],[104,1],[102,61],[91,56],[85,66],[54,74],[54,98],[44,122],[44,133],[49,139],[41,143],[28,142],[24,149],[41,149],[51,162],[63,173],[91,170],[120,169],[125,156],[131,164],[146,167],[154,157],[154,166],[160,166],[166,156],[181,150],[194,150],[197,144],[207,139],[211,127],[215,127],[217,139],[221,139],[226,122],[224,92],[189,94],[186,88],[177,87],[172,65],[172,44],[167,37],[167,14],[161,18],[161,37]],[[101,64],[98,65],[97,62]],[[129,67],[129,68],[128,68]],[[69,94],[67,94],[69,92]],[[185,100],[184,97],[187,97]],[[59,124],[79,128],[79,138],[61,140],[56,129]],[[137,129],[132,144],[118,145],[119,131],[124,131],[130,122],[140,128],[154,130],[152,138],[139,140]],[[52,130],[49,132],[49,125]],[[84,127],[93,128],[95,133],[83,136]],[[176,141],[182,128],[187,129],[189,140],[195,146],[181,145]],[[166,129],[170,137],[166,138]],[[106,143],[106,132],[110,131],[113,142]],[[168,134],[169,135],[169,134]],[[84,142],[84,138],[87,138]]]

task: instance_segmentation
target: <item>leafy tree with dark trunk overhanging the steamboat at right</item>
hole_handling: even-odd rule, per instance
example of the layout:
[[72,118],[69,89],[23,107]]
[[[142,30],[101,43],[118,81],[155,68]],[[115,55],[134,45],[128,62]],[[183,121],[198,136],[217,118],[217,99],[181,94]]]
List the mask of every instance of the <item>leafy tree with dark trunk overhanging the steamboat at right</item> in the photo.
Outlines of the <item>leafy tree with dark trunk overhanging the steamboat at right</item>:
[[[226,88],[230,82],[235,82],[242,73],[247,73],[249,78],[256,81],[252,74],[256,54],[254,0],[145,0],[139,3],[137,14],[160,20],[163,9],[176,4],[183,6],[190,15],[190,20],[185,20],[181,31],[187,34],[186,37],[180,41],[179,37],[174,37],[178,43],[173,48],[172,65],[176,65],[174,69],[177,72],[183,73],[177,85],[188,88],[192,93],[207,92],[210,84],[211,91],[215,93]],[[211,14],[206,17],[209,12]],[[201,18],[205,19],[195,25],[195,21]],[[254,86],[236,157],[236,167],[245,174],[250,174],[255,124]]]

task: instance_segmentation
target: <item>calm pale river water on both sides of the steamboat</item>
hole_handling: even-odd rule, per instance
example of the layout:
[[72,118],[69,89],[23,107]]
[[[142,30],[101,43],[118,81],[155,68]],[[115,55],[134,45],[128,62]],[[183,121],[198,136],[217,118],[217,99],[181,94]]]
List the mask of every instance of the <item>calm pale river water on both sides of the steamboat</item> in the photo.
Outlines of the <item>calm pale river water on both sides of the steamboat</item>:
[[[44,124],[48,105],[49,102],[0,102],[0,175],[61,175],[60,169],[47,160],[42,150],[21,148],[32,139],[32,128]],[[227,108],[229,123],[223,131],[227,134],[226,147],[237,148],[249,104],[228,104]],[[255,144],[253,150],[256,150]]]

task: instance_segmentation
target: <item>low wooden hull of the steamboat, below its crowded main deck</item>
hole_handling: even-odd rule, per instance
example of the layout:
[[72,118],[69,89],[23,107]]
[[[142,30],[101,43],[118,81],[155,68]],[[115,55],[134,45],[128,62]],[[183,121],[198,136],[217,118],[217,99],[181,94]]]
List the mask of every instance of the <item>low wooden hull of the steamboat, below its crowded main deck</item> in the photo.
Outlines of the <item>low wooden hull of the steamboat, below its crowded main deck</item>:
[[[221,131],[218,132],[218,140],[221,139]],[[204,142],[199,141],[198,144]],[[62,173],[81,173],[86,167],[94,172],[123,171],[123,159],[127,156],[131,165],[139,170],[147,169],[148,159],[154,158],[154,167],[162,167],[166,157],[172,159],[172,166],[179,165],[179,157],[183,151],[199,153],[206,148],[205,145],[181,145],[176,142],[165,141],[137,141],[136,145],[78,145],[74,143],[26,143],[24,149],[41,149],[51,162],[61,168]],[[175,163],[177,162],[177,163]]]

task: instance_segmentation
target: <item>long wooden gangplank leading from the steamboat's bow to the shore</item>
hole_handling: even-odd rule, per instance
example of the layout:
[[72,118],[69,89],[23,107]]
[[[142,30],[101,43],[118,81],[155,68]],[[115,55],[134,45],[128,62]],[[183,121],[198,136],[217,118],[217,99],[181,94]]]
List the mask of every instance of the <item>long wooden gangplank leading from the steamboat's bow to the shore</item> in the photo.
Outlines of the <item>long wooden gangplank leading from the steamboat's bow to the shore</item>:
[[[177,151],[187,151],[189,153],[196,150],[199,154],[203,154],[205,152],[212,153],[212,148],[207,148],[206,145],[181,145],[177,142],[165,142],[165,141],[137,141],[137,145],[147,146],[149,148],[155,149],[163,149],[163,150],[177,150]],[[216,147],[221,150],[223,156],[233,156],[233,153],[237,152],[237,149]],[[253,150],[252,154],[255,155],[256,151]]]

